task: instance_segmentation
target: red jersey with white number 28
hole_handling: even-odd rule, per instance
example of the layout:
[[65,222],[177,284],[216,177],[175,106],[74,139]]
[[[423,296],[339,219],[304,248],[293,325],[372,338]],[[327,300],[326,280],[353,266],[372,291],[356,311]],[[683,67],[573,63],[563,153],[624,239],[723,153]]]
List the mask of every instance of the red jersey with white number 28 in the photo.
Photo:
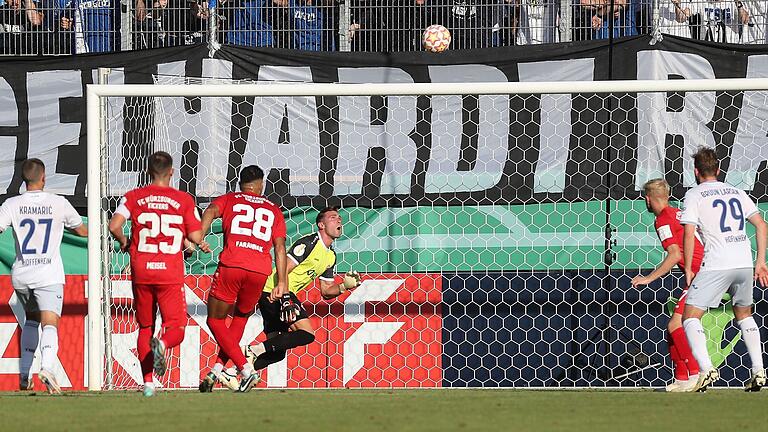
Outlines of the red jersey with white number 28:
[[219,209],[224,229],[224,250],[219,263],[226,267],[271,274],[273,239],[285,238],[280,207],[261,195],[231,192],[211,203]]

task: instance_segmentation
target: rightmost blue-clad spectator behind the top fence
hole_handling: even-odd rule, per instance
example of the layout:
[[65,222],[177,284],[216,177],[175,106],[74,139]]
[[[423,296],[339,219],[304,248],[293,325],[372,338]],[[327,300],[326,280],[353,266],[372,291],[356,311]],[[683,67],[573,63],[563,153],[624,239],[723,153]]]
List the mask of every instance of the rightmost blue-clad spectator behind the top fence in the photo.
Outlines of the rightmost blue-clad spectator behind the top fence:
[[581,0],[582,5],[591,7],[594,39],[636,36],[637,19],[634,0]]

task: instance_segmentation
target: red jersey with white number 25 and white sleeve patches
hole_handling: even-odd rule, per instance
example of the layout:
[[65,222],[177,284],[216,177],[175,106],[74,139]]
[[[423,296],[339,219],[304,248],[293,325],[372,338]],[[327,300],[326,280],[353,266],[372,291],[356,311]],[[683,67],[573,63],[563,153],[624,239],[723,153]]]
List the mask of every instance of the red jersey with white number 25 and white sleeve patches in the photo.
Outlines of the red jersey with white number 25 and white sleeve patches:
[[172,187],[149,185],[123,197],[117,213],[131,219],[131,279],[184,283],[184,239],[202,229],[195,200]]

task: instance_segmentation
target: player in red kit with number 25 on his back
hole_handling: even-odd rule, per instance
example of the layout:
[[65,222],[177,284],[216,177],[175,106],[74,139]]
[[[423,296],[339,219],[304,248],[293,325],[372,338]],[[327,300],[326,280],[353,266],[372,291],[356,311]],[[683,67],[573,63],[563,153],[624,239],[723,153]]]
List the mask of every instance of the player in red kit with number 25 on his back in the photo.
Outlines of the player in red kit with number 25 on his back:
[[[120,250],[131,257],[133,304],[139,337],[136,349],[144,375],[144,396],[154,396],[152,370],[165,374],[165,352],[184,340],[187,304],[184,298],[184,239],[210,252],[203,241],[200,217],[191,195],[170,186],[173,159],[166,152],[149,157],[152,183],[125,194],[109,221],[109,231]],[[123,225],[132,220],[130,239]],[[163,335],[155,333],[155,315],[160,308]],[[150,355],[151,354],[151,355]]]

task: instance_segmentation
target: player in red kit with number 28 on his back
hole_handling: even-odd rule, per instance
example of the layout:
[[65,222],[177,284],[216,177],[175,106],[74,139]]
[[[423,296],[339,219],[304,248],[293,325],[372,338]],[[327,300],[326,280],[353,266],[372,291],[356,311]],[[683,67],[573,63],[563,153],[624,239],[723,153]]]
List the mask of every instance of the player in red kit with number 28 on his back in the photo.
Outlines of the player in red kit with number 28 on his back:
[[[247,392],[259,382],[254,370],[240,350],[248,317],[253,314],[264,284],[272,273],[270,251],[275,247],[275,268],[281,291],[286,289],[285,219],[277,205],[261,196],[264,171],[251,165],[240,172],[240,191],[216,198],[203,213],[203,232],[208,232],[214,219],[222,219],[224,249],[213,276],[208,295],[208,328],[219,344],[219,357],[203,381],[201,392],[210,392],[221,380],[230,359],[240,372],[237,391]],[[227,327],[230,309],[232,322]],[[233,389],[234,390],[234,389]]]

